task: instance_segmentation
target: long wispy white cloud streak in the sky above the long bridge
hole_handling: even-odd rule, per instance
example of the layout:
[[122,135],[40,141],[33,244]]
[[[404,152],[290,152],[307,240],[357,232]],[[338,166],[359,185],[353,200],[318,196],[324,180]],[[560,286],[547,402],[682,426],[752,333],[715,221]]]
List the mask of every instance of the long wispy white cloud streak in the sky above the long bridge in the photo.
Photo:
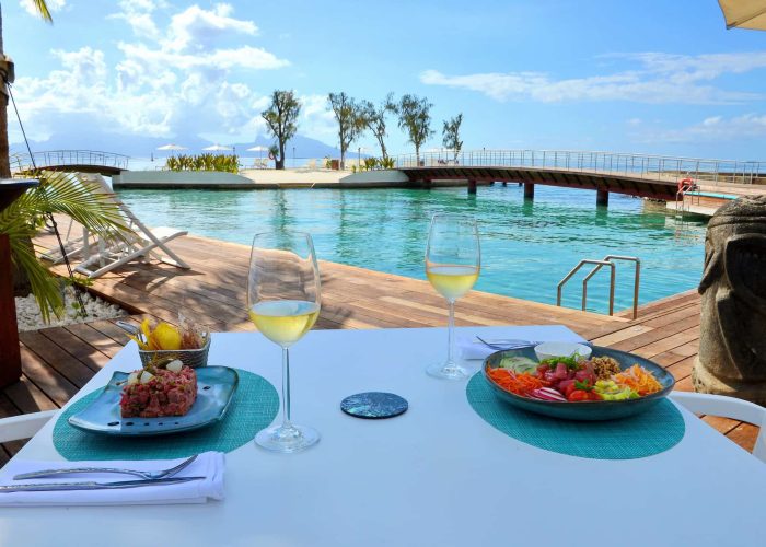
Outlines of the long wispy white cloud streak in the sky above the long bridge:
[[755,93],[719,89],[710,82],[727,73],[766,68],[766,53],[699,56],[642,53],[610,55],[604,58],[634,61],[638,67],[613,74],[569,79],[556,79],[544,72],[446,75],[437,70],[426,70],[420,74],[420,81],[430,85],[477,91],[496,101],[713,104],[740,103],[762,97]]

